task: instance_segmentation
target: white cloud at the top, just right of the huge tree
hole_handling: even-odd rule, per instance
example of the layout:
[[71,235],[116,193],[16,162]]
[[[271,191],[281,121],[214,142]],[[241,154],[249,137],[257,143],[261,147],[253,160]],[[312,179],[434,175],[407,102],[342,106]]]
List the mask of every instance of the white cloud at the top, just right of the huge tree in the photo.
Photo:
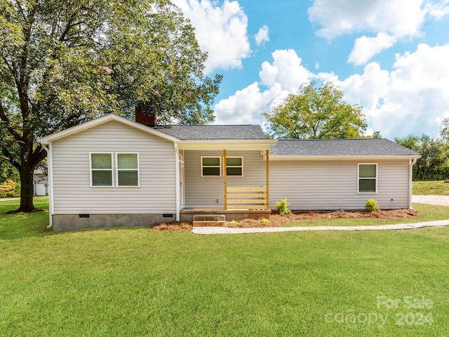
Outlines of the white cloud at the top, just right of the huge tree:
[[208,52],[206,73],[216,68],[240,68],[251,50],[248,41],[248,17],[237,1],[216,6],[210,0],[173,0],[195,27],[201,50]]

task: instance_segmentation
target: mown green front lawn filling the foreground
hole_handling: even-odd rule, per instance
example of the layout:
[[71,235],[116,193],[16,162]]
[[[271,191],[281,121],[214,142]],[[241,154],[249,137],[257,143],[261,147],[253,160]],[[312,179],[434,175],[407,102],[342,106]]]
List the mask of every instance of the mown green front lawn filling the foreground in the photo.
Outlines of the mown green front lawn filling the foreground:
[[55,233],[48,213],[4,214],[16,206],[0,203],[0,336],[449,335],[447,227]]

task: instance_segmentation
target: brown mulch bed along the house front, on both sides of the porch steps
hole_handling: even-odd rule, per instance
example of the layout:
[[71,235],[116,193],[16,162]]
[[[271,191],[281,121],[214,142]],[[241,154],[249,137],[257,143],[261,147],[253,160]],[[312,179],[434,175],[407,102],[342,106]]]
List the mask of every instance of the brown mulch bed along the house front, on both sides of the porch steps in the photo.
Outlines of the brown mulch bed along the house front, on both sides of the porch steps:
[[[336,218],[347,219],[378,219],[378,220],[397,220],[402,218],[410,218],[412,216],[420,216],[420,213],[413,209],[393,209],[388,211],[306,211],[294,212],[289,216],[282,216],[276,212],[272,213],[269,220],[267,219],[245,219],[240,221],[227,221],[225,227],[233,228],[250,228],[250,227],[279,227],[288,223],[325,220]],[[153,225],[154,230],[170,230],[170,231],[189,231],[192,230],[192,223],[158,223]]]

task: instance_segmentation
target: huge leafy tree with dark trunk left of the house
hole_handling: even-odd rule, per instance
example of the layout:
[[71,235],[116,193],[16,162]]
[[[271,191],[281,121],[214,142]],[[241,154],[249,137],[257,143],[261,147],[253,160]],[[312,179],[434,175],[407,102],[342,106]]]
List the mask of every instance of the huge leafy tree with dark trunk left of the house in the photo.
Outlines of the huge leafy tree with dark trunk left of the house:
[[135,105],[166,123],[213,121],[221,76],[167,0],[0,0],[0,156],[32,211],[40,136]]

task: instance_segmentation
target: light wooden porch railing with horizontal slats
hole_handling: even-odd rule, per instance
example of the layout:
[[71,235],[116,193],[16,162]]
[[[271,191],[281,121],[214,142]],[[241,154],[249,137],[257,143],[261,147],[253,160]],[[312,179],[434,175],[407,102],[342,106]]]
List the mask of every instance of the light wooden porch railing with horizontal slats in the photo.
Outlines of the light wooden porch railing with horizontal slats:
[[227,187],[225,209],[269,209],[267,187]]

